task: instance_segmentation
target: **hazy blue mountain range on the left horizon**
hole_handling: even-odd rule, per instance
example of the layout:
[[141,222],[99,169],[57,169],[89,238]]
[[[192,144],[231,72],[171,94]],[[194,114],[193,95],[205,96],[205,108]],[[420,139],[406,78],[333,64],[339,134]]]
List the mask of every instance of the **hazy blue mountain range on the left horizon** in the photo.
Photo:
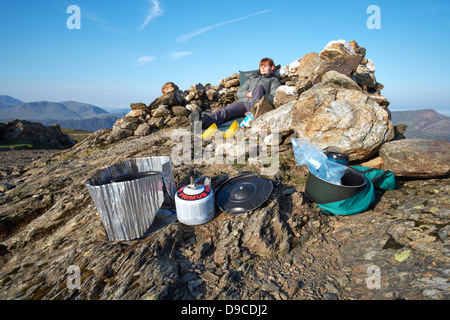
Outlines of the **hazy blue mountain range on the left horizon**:
[[129,110],[110,113],[100,107],[76,102],[23,102],[7,95],[0,95],[0,122],[15,119],[40,122],[45,125],[59,123],[62,128],[97,131],[112,128],[117,119]]

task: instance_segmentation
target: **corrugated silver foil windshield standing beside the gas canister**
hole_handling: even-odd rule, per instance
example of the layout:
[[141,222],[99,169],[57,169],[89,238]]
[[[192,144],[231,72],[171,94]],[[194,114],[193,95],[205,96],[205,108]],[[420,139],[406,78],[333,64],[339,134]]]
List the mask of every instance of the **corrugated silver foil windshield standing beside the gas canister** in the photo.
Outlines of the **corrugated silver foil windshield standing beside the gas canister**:
[[[120,182],[120,177],[157,173]],[[170,157],[129,159],[97,171],[85,182],[109,240],[132,240],[149,229],[165,200],[173,200],[176,184]]]

